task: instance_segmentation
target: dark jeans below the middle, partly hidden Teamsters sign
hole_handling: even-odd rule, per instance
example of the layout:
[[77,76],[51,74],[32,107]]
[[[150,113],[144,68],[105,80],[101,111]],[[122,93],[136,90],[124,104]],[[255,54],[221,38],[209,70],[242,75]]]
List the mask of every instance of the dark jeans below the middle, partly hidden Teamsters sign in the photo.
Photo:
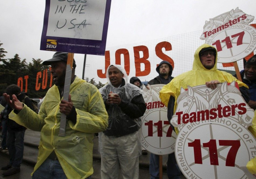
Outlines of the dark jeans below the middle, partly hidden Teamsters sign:
[[[159,179],[159,155],[150,154],[149,173],[151,179]],[[175,154],[168,155],[167,176],[169,179],[179,179],[181,170],[176,162]]]

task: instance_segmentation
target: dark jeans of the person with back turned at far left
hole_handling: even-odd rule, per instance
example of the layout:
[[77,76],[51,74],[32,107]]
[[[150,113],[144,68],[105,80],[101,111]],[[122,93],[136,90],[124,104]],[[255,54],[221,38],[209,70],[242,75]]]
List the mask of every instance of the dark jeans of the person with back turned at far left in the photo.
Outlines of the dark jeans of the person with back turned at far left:
[[23,159],[25,130],[17,132],[7,131],[7,147],[9,150],[10,165],[19,168]]

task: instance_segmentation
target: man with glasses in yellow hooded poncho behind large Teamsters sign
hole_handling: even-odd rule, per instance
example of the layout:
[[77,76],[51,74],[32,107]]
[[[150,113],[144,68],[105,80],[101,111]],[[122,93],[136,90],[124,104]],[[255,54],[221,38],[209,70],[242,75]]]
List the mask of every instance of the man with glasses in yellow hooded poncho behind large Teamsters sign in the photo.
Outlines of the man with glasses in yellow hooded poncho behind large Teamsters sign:
[[[201,45],[195,51],[192,70],[176,76],[170,83],[163,86],[160,91],[160,99],[162,103],[168,106],[168,120],[171,120],[171,117],[176,110],[177,98],[180,95],[181,87],[187,89],[187,86],[194,87],[206,84],[207,87],[215,89],[217,84],[225,81],[228,83],[236,81],[242,97],[248,103],[248,86],[236,79],[230,73],[217,70],[217,50],[208,44]],[[177,129],[175,130],[177,133]]]

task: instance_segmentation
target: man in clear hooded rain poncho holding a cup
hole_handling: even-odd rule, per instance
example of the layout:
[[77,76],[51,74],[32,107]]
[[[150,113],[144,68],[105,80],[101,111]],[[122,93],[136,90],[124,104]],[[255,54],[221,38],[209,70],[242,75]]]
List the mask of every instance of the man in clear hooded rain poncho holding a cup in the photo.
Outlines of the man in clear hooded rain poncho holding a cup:
[[99,133],[101,178],[139,178],[141,154],[141,116],[146,111],[142,90],[130,84],[121,65],[110,65],[107,84],[100,88],[109,115],[109,126]]

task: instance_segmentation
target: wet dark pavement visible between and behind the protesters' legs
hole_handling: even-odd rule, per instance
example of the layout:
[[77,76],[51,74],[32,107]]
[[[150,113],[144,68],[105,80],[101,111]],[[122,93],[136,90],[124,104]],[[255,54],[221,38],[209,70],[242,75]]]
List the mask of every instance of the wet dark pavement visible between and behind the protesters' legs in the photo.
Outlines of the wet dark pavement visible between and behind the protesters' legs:
[[[31,173],[33,171],[34,165],[37,161],[38,156],[38,145],[40,141],[40,132],[32,131],[27,129],[24,137],[24,156],[23,163],[21,165],[21,172],[16,173],[12,176],[3,177],[3,170],[0,170],[0,179],[28,179],[31,178]],[[167,155],[163,156],[163,179],[167,179],[166,173],[166,163]],[[149,179],[149,160],[150,153],[147,155],[141,155],[139,157],[139,178]],[[9,162],[8,152],[0,152],[0,167],[7,165]],[[100,169],[101,169],[101,155],[98,152],[98,138],[94,138],[94,148],[93,148],[93,168],[94,173],[92,179],[100,179]],[[119,172],[121,173],[121,172]],[[119,177],[122,179],[121,175]],[[185,179],[184,176],[181,179]]]

